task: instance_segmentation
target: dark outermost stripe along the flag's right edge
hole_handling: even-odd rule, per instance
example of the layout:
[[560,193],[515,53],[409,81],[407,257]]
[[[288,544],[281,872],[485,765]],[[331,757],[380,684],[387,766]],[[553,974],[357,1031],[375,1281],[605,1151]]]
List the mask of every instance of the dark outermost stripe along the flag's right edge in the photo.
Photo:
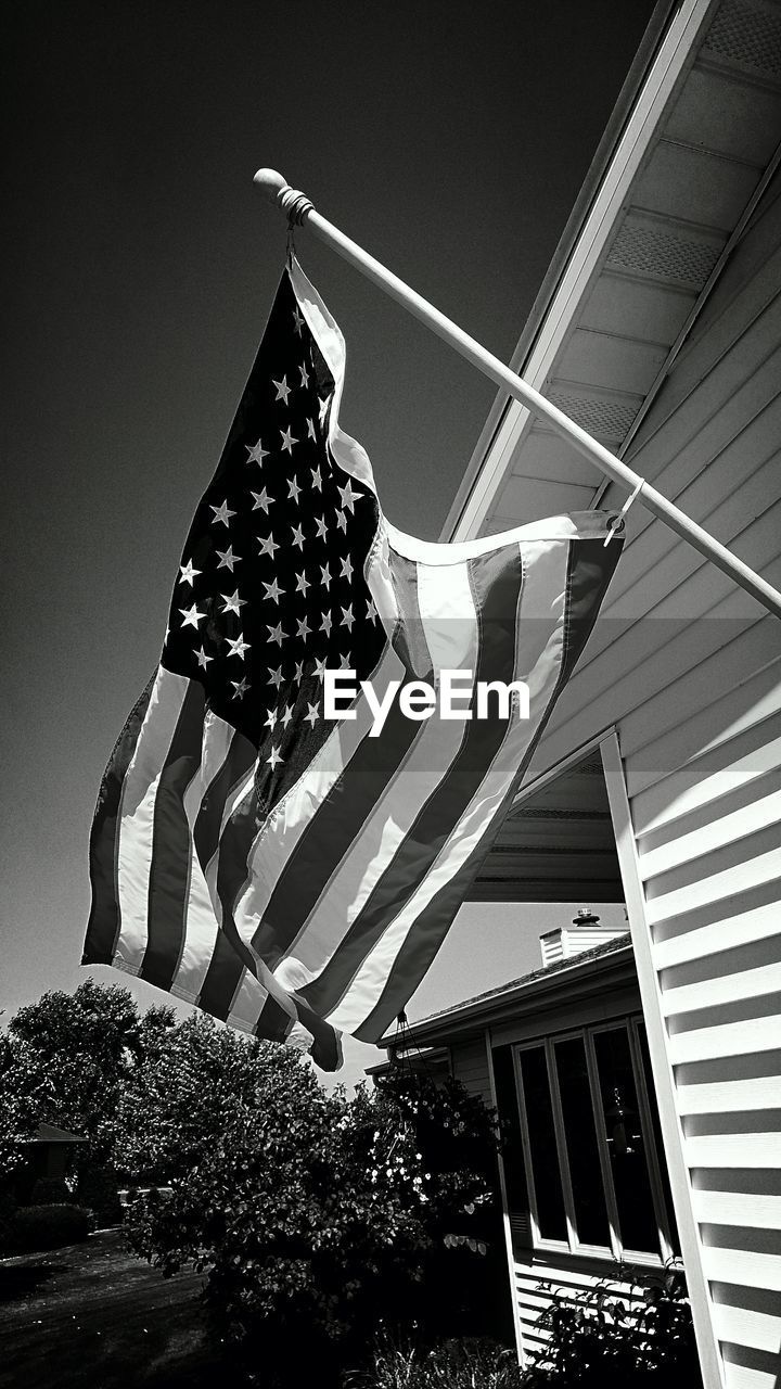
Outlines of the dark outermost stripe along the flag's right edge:
[[[536,614],[548,606],[550,593],[560,588],[556,576],[553,585],[548,582],[556,556],[553,553],[543,556],[539,551],[535,554],[535,546],[527,549],[531,549],[532,553],[528,556],[531,563],[527,565],[528,578],[521,601],[518,631],[528,632],[531,624],[531,631],[539,635],[541,619]],[[385,963],[382,972],[386,982],[382,993],[372,1011],[354,1028],[354,1036],[364,1042],[374,1042],[382,1036],[429,968],[491,846],[496,824],[502,820],[502,811],[523,781],[559,693],[568,681],[585,646],[593,613],[599,608],[607,590],[616,561],[614,556],[606,554],[600,540],[573,542],[568,549],[564,581],[566,601],[560,604],[560,618],[550,629],[542,651],[539,651],[538,643],[538,657],[531,671],[528,660],[525,661],[525,674],[521,668],[523,660],[516,669],[514,678],[527,678],[529,683],[529,720],[527,724],[516,722],[510,726],[500,757],[491,767],[481,792],[484,799],[482,828],[477,843],[472,836],[471,853],[460,867],[452,858],[443,861],[443,867],[438,872],[436,892],[422,910],[416,913],[414,929],[407,932],[395,961]],[[527,600],[528,617],[524,613]],[[525,643],[523,651],[528,656]],[[453,867],[456,867],[456,872],[450,876]],[[416,903],[410,903],[410,907],[414,911]],[[336,1026],[350,1028],[350,1017],[346,1015],[346,1010],[336,1010],[331,1021]]]

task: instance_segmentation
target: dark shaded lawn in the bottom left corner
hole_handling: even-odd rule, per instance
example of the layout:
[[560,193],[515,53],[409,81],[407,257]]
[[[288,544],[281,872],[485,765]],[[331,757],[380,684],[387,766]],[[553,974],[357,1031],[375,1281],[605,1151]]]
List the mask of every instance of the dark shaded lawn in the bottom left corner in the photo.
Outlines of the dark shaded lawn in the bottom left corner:
[[[164,1279],[120,1231],[0,1260],[1,1389],[200,1389],[222,1378],[207,1350],[202,1279]],[[224,1372],[224,1371],[222,1371]]]

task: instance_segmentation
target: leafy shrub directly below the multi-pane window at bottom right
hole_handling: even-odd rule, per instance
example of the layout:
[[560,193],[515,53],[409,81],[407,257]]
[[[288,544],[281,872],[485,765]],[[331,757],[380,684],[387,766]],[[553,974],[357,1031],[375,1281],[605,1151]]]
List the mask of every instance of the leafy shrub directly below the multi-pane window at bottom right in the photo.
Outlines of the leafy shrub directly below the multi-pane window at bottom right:
[[[630,1283],[639,1307],[617,1282]],[[653,1389],[702,1385],[692,1314],[682,1275],[674,1268],[639,1275],[618,1268],[582,1293],[542,1283],[552,1297],[538,1325],[550,1333],[528,1372],[528,1389]]]

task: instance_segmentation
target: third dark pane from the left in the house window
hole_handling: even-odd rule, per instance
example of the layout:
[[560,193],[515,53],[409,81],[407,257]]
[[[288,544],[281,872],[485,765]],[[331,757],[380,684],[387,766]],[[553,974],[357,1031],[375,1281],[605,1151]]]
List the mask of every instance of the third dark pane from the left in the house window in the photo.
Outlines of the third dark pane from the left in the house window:
[[624,1249],[659,1253],[659,1232],[642,1140],[635,1076],[625,1028],[596,1032],[593,1038],[599,1089],[618,1225]]

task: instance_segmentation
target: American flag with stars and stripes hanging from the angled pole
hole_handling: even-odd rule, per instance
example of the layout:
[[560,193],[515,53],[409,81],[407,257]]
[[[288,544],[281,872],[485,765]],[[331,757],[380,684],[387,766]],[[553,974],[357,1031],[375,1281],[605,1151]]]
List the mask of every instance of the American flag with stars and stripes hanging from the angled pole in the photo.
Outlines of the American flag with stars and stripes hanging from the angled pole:
[[[396,531],[339,428],[343,376],[292,261],[103,778],[82,961],[324,1070],[342,1032],[381,1036],[434,960],[620,551],[603,513],[467,544]],[[378,697],[442,669],[523,679],[529,717],[413,721],[396,700],[372,738],[364,693],[325,717],[327,669]]]

